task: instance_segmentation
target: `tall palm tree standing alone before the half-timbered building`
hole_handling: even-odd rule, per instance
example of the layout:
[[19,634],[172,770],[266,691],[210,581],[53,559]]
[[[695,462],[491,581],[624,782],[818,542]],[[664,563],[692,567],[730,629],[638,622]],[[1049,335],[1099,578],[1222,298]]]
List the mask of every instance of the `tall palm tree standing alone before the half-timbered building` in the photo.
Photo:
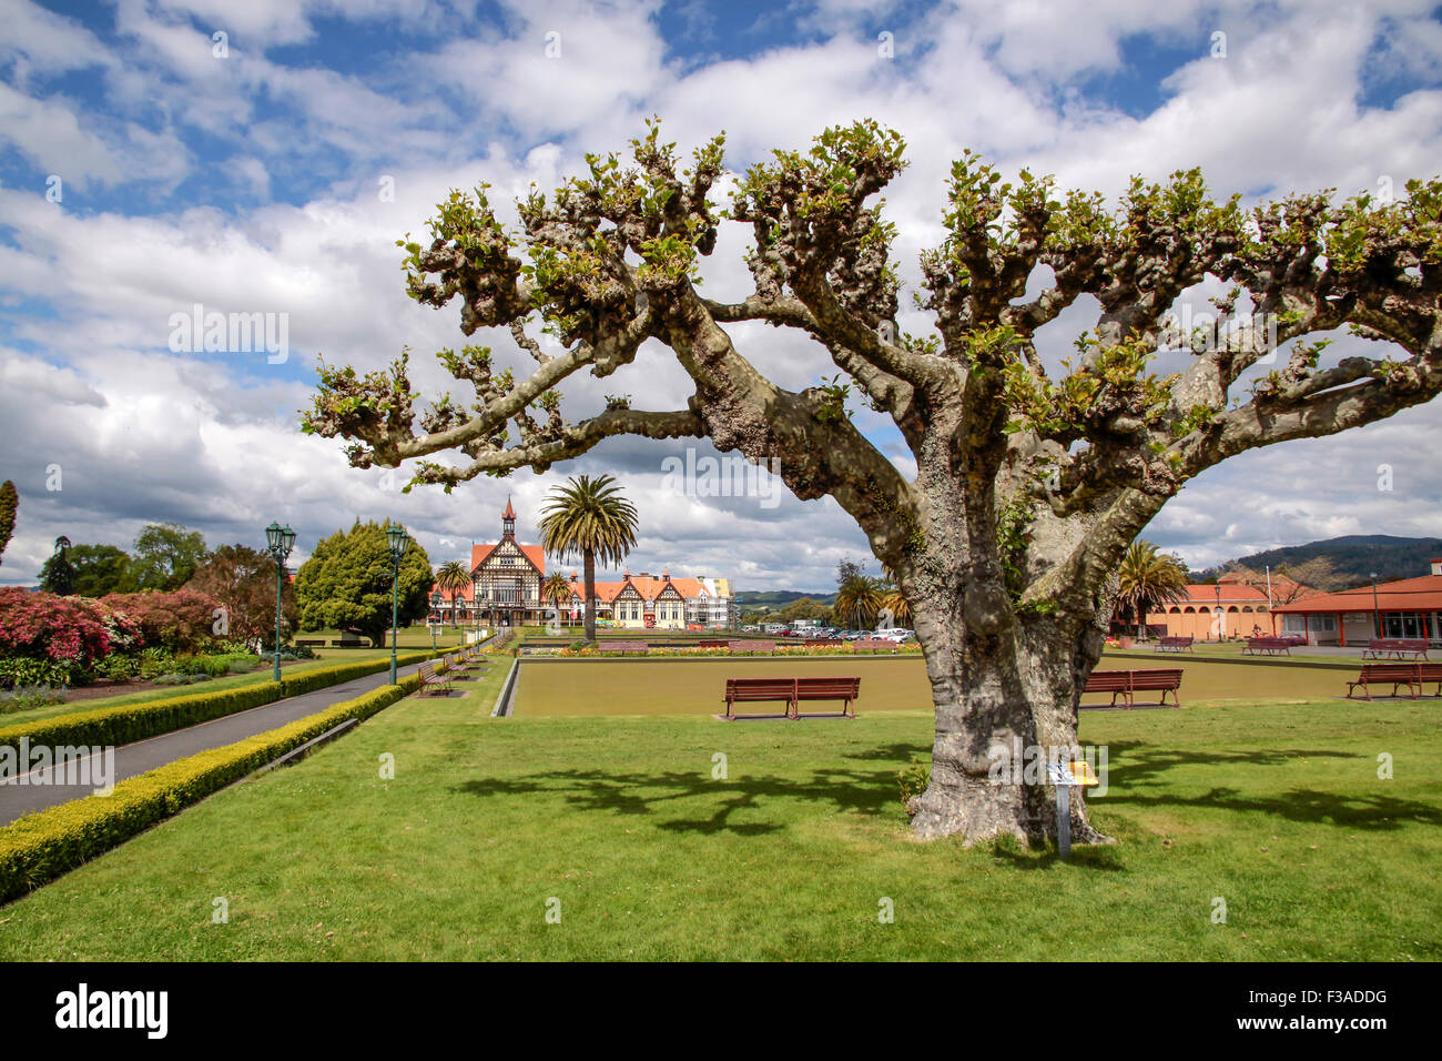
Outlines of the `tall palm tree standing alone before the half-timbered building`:
[[616,567],[636,547],[636,507],[610,475],[575,475],[541,512],[545,551],[585,564],[585,639],[596,641],[596,562]]

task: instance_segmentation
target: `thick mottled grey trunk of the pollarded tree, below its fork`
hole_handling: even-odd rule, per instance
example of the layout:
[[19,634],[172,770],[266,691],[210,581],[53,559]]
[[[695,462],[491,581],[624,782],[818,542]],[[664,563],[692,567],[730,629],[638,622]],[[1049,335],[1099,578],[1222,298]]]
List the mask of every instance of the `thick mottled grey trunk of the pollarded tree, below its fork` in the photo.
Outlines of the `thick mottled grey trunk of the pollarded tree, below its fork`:
[[[1045,615],[969,632],[955,603],[950,612],[916,614],[936,704],[932,784],[908,807],[916,836],[1054,842],[1056,788],[1045,764],[1079,755],[1076,690],[1100,657],[1102,634],[1073,638]],[[1109,842],[1087,820],[1080,790],[1070,818],[1073,843]]]

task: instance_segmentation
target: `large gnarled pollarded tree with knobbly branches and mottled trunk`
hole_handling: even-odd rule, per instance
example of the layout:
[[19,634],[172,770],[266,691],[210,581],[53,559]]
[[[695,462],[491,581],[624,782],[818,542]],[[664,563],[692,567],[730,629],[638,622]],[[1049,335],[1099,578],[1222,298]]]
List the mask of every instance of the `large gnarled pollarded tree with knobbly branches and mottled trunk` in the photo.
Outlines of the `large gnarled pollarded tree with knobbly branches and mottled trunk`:
[[[728,212],[708,198],[721,137],[682,169],[652,126],[632,156],[590,156],[585,175],[532,193],[519,230],[485,189],[451,192],[430,243],[405,244],[410,294],[459,303],[466,335],[508,329],[534,358],[526,372],[500,371],[486,348],[443,351],[474,398],[447,394],[418,416],[404,354],[363,377],[322,365],[304,424],[350,439],[356,466],[420,459],[415,481],[447,489],[639,435],[705,436],[776,459],[800,498],[829,494],[914,611],[936,703],[932,782],[913,804],[923,837],[1054,831],[1044,784],[994,782],[995,748],[1074,743],[1118,563],[1182,484],[1442,390],[1438,180],[1412,182],[1394,202],[1324,192],[1243,209],[1214,201],[1193,170],[1136,179],[1113,208],[1030,173],[1004,183],[966,153],[946,188],[945,237],[920,261],[917,307],[934,333],[914,336],[897,326],[895,230],[877,198],[904,165],[895,133],[862,121],[826,130],[809,152],[777,152],[738,179]],[[737,302],[708,299],[698,279],[724,219],[754,241],[754,292]],[[1208,279],[1231,323],[1185,336],[1194,357],[1159,374],[1152,358],[1171,345],[1174,303]],[[1048,372],[1034,336],[1082,296],[1100,315],[1077,357]],[[728,332],[753,320],[810,336],[844,377],[776,385]],[[559,352],[526,332],[535,323]],[[1387,349],[1324,362],[1314,336],[1345,326]],[[562,416],[567,377],[610,375],[647,341],[689,375],[686,409],[611,398],[581,420]],[[914,478],[857,429],[852,396],[895,422]],[[464,460],[425,459],[447,452]],[[1102,839],[1080,800],[1071,814],[1074,837]]]

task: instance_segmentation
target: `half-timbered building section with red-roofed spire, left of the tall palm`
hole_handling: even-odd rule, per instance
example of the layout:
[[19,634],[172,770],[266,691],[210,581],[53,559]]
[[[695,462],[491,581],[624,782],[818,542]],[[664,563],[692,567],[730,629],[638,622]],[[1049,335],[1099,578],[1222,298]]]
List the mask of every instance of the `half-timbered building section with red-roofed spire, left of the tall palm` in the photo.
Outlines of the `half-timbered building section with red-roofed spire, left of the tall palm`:
[[516,510],[508,498],[500,514],[500,541],[470,547],[470,586],[456,593],[454,603],[451,590],[431,586],[431,622],[487,626],[544,622],[542,579],[545,550],[516,541]]

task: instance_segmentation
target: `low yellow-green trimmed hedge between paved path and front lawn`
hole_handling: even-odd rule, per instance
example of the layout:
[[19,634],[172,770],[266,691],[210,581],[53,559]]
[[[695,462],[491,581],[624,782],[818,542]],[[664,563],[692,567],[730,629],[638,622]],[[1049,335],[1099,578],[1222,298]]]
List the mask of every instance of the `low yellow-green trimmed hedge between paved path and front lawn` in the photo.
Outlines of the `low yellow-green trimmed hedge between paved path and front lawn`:
[[363,722],[418,686],[414,676],[402,678],[278,729],[128,778],[110,795],[87,795],[17,818],[0,829],[0,902],[104,855],[346,719]]

